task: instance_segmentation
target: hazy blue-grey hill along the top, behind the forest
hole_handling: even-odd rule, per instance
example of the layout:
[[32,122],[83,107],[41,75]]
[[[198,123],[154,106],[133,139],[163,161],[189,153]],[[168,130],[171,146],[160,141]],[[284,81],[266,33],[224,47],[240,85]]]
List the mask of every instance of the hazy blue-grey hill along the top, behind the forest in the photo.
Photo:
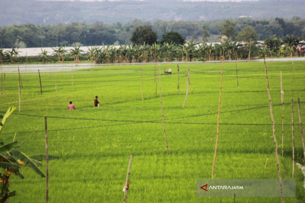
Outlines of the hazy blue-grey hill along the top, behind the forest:
[[134,19],[155,22],[212,20],[251,16],[262,18],[305,17],[304,0],[244,2],[185,2],[147,0],[118,2],[0,0],[0,26],[13,24],[58,24],[72,22],[127,23]]

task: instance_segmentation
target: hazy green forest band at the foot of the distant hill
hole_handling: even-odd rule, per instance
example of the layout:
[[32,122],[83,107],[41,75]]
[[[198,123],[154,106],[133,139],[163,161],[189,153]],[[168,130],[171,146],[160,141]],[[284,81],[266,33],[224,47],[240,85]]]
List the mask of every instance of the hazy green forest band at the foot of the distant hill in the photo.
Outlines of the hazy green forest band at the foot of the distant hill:
[[292,19],[251,19],[236,18],[210,21],[162,21],[154,23],[142,22],[135,19],[131,23],[105,24],[97,21],[94,24],[71,23],[58,25],[34,25],[31,23],[0,27],[1,48],[23,48],[23,47],[56,47],[73,46],[82,44],[84,46],[129,44],[132,33],[139,26],[148,26],[156,33],[157,41],[170,31],[178,32],[184,39],[194,38],[196,41],[218,41],[222,35],[221,27],[229,21],[233,25],[232,39],[251,26],[257,33],[258,40],[276,35],[285,37],[289,34],[294,36],[305,36],[305,19],[293,17]]

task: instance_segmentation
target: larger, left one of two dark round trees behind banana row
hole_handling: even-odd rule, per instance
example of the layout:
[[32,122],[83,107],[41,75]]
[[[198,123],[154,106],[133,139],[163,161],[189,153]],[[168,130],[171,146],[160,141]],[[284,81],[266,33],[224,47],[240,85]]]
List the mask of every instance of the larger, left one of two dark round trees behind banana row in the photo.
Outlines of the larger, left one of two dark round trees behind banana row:
[[148,26],[139,26],[131,35],[133,44],[149,44],[152,45],[157,41],[157,34]]

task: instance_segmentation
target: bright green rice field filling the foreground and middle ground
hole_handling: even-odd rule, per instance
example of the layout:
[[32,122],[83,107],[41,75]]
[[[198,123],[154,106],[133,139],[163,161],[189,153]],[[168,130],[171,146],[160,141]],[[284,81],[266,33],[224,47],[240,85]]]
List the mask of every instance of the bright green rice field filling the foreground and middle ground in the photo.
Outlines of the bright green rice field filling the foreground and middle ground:
[[[142,82],[143,97],[142,101]],[[172,68],[171,75],[164,69]],[[123,202],[131,153],[127,202],[233,202],[232,197],[196,196],[196,180],[211,178],[216,142],[221,63],[161,64],[162,104],[169,147],[167,154],[155,65],[92,66],[73,72],[5,74],[0,114],[17,107],[0,142],[16,139],[28,155],[45,154],[44,116],[48,122],[49,202]],[[294,101],[296,162],[304,165],[297,98],[305,122],[305,62],[267,62],[282,178],[292,178],[291,99]],[[272,68],[272,71],[271,71]],[[159,64],[156,64],[157,75]],[[191,91],[186,95],[186,70]],[[224,63],[215,179],[277,179],[272,122],[263,62]],[[282,149],[280,71],[283,74],[285,126]],[[272,72],[272,76],[271,76]],[[57,91],[55,86],[57,85]],[[95,96],[100,107],[94,106]],[[76,110],[69,111],[72,101]],[[268,158],[267,165],[266,159]],[[46,172],[46,163],[41,170]],[[45,202],[46,179],[29,167],[12,175],[9,202]],[[305,202],[303,174],[295,166],[296,197]],[[236,197],[235,202],[281,202],[280,197]]]

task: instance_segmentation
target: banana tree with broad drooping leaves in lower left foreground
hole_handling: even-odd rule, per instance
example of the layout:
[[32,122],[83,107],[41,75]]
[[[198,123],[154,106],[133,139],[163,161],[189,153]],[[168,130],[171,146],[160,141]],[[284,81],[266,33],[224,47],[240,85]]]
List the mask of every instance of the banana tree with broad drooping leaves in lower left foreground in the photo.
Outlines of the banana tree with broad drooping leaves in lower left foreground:
[[[2,117],[1,125],[0,125],[0,134],[4,127],[5,122],[8,117],[14,112],[16,107],[10,107],[7,112]],[[16,191],[9,191],[10,185],[10,176],[11,174],[15,174],[21,179],[23,179],[23,175],[20,173],[21,167],[30,167],[37,173],[40,177],[44,178],[45,174],[38,168],[42,166],[40,163],[41,160],[45,160],[46,155],[32,155],[28,156],[24,152],[19,150],[18,142],[15,141],[15,137],[13,142],[8,144],[0,143],[0,184],[2,184],[1,192],[0,192],[0,202],[7,203],[9,198],[16,195]],[[56,156],[48,156],[49,160],[59,159]]]

